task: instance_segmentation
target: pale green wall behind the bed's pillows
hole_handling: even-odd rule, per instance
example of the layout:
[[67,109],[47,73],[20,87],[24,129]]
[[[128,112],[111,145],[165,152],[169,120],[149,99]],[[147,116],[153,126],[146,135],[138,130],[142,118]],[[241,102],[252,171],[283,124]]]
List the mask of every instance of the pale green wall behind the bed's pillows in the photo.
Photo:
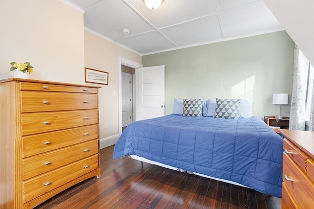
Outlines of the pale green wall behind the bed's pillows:
[[[142,56],[165,65],[166,115],[174,98],[252,98],[253,115],[279,115],[273,93],[292,92],[294,42],[285,31]],[[289,102],[290,103],[290,102]],[[289,116],[290,105],[282,105]]]

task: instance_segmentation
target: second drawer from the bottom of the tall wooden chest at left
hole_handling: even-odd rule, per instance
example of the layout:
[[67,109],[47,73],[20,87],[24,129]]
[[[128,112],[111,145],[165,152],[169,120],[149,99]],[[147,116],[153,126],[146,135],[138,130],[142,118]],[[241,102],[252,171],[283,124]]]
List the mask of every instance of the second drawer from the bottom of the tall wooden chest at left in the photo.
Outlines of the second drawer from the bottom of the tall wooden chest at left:
[[35,155],[22,160],[22,180],[98,153],[98,139]]

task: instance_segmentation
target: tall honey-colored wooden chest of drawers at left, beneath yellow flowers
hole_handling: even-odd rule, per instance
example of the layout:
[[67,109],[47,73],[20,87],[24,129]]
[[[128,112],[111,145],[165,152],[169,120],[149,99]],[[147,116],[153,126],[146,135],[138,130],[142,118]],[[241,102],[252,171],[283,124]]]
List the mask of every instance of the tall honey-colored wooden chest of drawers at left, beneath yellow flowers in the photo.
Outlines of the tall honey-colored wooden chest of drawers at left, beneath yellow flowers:
[[100,177],[98,87],[0,80],[0,208]]

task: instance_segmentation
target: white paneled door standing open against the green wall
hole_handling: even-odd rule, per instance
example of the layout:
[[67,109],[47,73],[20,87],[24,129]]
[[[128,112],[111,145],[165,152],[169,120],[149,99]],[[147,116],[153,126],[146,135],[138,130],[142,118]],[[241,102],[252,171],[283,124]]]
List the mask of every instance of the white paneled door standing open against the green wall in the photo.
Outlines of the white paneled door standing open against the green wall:
[[138,68],[136,75],[136,120],[165,115],[165,66]]

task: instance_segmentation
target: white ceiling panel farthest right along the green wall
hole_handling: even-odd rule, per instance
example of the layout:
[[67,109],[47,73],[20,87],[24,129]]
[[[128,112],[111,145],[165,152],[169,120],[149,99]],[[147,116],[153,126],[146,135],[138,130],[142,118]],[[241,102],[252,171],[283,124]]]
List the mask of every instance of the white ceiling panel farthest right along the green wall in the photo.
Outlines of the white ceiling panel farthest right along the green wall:
[[263,1],[223,11],[220,15],[226,38],[281,28]]

